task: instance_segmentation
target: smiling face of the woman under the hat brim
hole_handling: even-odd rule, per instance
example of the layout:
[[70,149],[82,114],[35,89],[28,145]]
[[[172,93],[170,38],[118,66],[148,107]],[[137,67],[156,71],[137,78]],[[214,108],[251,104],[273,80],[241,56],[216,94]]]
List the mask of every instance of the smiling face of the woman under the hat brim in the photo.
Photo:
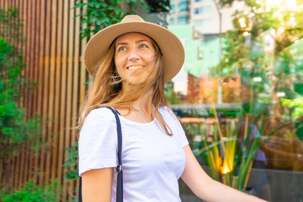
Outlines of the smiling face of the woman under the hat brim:
[[130,32],[119,36],[115,43],[115,64],[123,82],[139,84],[151,76],[155,49],[147,35]]

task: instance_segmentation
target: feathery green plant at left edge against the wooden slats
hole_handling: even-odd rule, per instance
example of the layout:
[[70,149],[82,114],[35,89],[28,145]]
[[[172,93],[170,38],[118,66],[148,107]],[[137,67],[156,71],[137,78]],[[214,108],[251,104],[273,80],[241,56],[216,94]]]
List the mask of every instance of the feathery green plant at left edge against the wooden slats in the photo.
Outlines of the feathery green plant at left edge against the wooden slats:
[[23,143],[31,143],[26,149],[39,147],[41,121],[39,116],[27,120],[26,109],[18,106],[19,98],[25,96],[21,87],[29,90],[34,87],[26,78],[21,77],[25,65],[23,56],[13,46],[19,38],[22,26],[18,10],[0,9],[0,16],[3,36],[0,36],[0,162],[4,165],[2,173],[7,183],[4,186],[11,188],[11,158],[18,154]]

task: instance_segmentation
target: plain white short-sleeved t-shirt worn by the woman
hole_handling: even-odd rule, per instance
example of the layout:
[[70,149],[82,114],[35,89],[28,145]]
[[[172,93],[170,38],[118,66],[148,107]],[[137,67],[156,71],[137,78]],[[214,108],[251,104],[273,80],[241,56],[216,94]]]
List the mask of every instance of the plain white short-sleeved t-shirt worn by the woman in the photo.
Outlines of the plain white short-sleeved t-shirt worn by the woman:
[[[168,136],[156,119],[141,124],[119,116],[124,202],[181,202],[178,179],[185,167],[182,147],[188,140],[166,107],[160,113],[173,136]],[[115,115],[106,108],[92,110],[80,132],[79,175],[91,169],[114,167],[112,202],[116,202],[117,150]]]

